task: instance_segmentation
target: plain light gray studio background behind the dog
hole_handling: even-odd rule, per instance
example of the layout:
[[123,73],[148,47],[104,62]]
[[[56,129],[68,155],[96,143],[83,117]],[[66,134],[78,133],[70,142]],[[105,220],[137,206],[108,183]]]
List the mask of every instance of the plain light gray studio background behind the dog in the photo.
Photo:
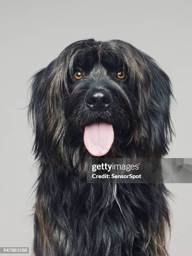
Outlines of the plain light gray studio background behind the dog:
[[[185,0],[0,0],[0,246],[32,246],[37,172],[22,108],[31,75],[73,41],[119,38],[156,59],[177,100],[172,106],[177,136],[169,157],[192,157],[191,12],[192,2]],[[190,256],[192,184],[167,187],[174,194],[170,256]]]

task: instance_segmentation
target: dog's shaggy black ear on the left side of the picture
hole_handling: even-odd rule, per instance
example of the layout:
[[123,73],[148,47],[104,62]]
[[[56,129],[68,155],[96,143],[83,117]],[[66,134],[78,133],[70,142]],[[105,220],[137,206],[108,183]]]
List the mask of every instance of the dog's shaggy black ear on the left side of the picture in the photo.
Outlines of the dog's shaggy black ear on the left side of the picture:
[[[65,94],[67,94],[66,53],[61,53],[31,80],[28,117],[32,121],[35,157],[42,160],[61,159],[65,136]],[[65,87],[66,86],[66,87]],[[64,93],[64,90],[66,93]]]

